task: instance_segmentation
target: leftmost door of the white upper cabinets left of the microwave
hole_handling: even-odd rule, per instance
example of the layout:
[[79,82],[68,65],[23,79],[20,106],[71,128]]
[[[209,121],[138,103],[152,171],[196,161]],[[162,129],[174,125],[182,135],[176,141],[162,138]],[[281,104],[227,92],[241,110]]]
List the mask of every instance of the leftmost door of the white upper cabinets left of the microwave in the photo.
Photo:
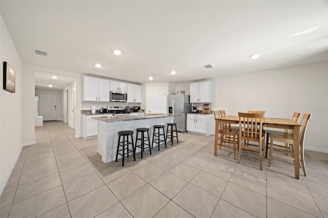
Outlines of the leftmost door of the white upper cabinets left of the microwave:
[[98,100],[98,78],[83,77],[82,101]]

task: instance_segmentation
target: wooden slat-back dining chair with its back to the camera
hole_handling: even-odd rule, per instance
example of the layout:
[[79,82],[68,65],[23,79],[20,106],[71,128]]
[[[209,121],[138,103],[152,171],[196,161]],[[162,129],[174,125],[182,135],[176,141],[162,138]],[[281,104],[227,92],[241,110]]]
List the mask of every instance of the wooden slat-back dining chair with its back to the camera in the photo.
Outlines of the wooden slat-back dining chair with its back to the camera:
[[[238,140],[238,161],[240,161],[242,150],[257,152],[259,155],[260,169],[262,170],[262,161],[264,159],[264,136],[263,132],[263,113],[238,113],[239,116],[239,140]],[[242,146],[242,140],[257,142],[258,146]]]

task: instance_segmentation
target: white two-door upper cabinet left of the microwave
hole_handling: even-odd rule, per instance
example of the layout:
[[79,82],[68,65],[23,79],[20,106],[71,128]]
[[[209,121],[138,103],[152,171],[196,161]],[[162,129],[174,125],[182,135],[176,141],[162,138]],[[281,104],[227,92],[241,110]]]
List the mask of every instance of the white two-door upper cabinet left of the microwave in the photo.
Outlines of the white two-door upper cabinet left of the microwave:
[[109,101],[110,80],[84,76],[82,78],[82,101]]

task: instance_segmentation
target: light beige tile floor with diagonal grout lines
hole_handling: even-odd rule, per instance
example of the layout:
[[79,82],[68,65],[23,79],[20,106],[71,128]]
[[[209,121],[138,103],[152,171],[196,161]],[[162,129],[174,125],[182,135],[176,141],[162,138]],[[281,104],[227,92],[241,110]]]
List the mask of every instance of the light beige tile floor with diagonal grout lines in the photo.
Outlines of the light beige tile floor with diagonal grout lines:
[[[259,169],[214,136],[179,134],[144,159],[105,164],[96,139],[75,138],[63,122],[35,128],[1,196],[2,217],[328,217],[328,154],[305,151],[308,177],[275,158]],[[302,170],[300,170],[302,174]]]

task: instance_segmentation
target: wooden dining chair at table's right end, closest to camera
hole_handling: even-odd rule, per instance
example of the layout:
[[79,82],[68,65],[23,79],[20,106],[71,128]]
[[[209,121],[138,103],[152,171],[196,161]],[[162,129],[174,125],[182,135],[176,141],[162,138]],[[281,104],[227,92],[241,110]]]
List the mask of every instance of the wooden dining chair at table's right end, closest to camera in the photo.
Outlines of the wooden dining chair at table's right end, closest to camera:
[[[309,120],[311,119],[312,114],[303,114],[302,120],[301,120],[301,130],[300,130],[300,161],[303,169],[304,176],[306,177],[306,168],[305,168],[305,163],[304,163],[304,138],[305,138],[305,132],[306,128],[308,128]],[[289,144],[290,149],[286,149],[284,145],[276,145],[274,142],[281,142],[285,144]],[[290,160],[295,160],[294,159],[294,137],[293,135],[290,135],[289,133],[285,134],[271,134],[270,135],[270,157],[269,157],[269,167],[271,166],[272,162],[272,156],[277,156],[280,158],[285,158],[285,159],[290,159]],[[278,154],[273,153],[273,151],[279,152]],[[285,155],[281,155],[285,154]],[[291,157],[286,156],[286,155],[291,155]]]

